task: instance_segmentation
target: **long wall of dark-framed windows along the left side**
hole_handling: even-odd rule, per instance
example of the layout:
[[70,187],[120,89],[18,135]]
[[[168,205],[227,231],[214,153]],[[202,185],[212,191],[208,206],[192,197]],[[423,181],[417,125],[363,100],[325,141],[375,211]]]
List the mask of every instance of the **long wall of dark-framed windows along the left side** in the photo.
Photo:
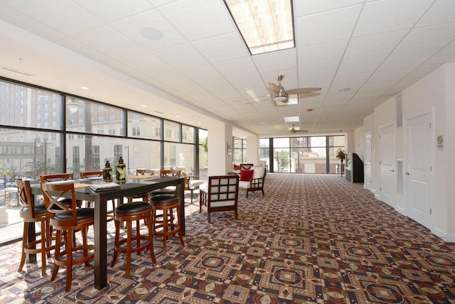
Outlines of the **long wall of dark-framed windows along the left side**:
[[[198,174],[201,130],[64,92],[0,78],[0,243],[21,237],[15,178],[114,166],[184,166]],[[206,131],[205,131],[206,133]],[[205,153],[202,153],[203,155]],[[205,170],[206,171],[206,170]],[[16,195],[15,195],[16,193]],[[6,236],[6,239],[5,239]]]

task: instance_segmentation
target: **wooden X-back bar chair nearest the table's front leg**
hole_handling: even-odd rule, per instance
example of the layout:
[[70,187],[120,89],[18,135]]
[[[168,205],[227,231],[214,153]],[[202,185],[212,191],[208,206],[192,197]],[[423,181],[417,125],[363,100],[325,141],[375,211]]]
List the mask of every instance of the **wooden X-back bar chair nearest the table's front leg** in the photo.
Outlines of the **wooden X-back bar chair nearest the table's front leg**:
[[[71,289],[73,265],[85,264],[94,258],[95,246],[88,244],[87,230],[94,224],[93,208],[77,208],[74,184],[41,183],[45,209],[50,225],[56,231],[55,256],[52,277],[54,281],[58,268],[66,268],[65,291]],[[62,203],[60,198],[71,197],[71,203]],[[76,244],[75,233],[82,233],[82,244]],[[79,254],[82,252],[82,254]]]

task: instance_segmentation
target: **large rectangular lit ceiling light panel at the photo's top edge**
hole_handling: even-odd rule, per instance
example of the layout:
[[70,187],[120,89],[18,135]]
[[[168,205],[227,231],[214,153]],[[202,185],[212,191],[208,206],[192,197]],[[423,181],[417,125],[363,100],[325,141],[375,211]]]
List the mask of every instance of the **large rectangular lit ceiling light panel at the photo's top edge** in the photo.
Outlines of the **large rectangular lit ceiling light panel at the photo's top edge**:
[[251,55],[294,48],[292,0],[224,0]]

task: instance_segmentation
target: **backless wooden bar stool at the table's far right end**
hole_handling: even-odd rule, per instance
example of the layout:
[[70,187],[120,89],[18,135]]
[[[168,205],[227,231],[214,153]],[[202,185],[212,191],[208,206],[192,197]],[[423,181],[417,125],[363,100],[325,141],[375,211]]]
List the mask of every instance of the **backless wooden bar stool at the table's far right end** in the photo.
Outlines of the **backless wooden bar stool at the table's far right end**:
[[[151,207],[153,209],[151,218],[153,221],[152,234],[154,237],[163,237],[163,253],[166,253],[166,240],[168,237],[178,234],[180,238],[180,243],[182,246],[185,246],[183,243],[182,229],[181,229],[181,214],[179,207],[179,199],[177,195],[171,194],[162,194],[155,195],[151,197]],[[174,222],[173,210],[177,210],[177,222]],[[163,211],[163,220],[160,221],[157,217],[161,215],[156,215],[156,210]],[[157,229],[162,228],[161,232],[158,232]]]

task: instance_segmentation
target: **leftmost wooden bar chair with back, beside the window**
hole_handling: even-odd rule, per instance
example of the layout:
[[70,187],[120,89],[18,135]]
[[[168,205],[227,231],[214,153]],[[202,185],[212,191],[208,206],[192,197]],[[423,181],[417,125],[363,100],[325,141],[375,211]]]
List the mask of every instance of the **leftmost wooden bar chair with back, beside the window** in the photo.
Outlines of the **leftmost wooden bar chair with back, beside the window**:
[[[21,180],[19,178],[16,180],[16,185],[19,203],[21,204],[19,216],[23,219],[22,254],[18,272],[22,271],[26,262],[26,254],[41,254],[41,275],[45,276],[46,256],[50,256],[50,250],[54,249],[45,205],[35,205],[29,180]],[[40,224],[41,236],[39,239],[34,241],[28,239],[28,226],[30,224]]]

